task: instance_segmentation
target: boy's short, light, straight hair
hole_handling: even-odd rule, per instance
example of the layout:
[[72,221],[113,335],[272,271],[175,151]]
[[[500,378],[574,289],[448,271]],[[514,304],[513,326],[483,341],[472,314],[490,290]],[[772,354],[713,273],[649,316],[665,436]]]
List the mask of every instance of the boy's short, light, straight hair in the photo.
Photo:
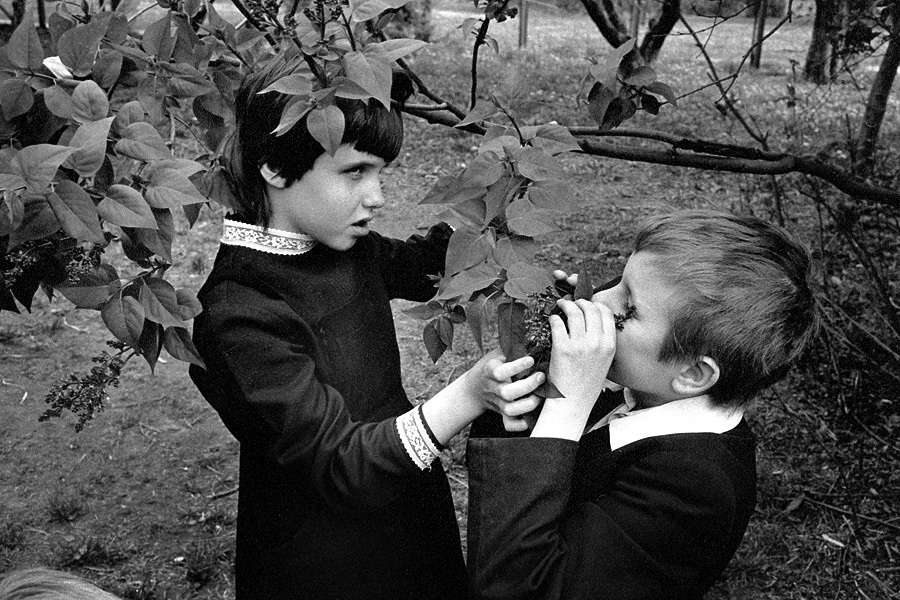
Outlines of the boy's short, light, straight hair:
[[678,290],[663,362],[714,359],[709,390],[717,404],[739,405],[784,377],[815,336],[812,261],[785,229],[750,216],[680,211],[651,220],[635,252],[653,255]]

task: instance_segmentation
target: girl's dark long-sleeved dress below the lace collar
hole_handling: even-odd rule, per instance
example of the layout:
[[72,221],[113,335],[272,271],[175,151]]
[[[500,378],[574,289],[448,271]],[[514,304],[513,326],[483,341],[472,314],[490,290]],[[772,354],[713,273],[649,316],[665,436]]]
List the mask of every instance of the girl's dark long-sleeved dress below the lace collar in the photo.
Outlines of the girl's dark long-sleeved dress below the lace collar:
[[300,256],[223,245],[191,377],[240,441],[238,600],[462,598],[439,461],[419,471],[389,300],[434,295],[449,228]]

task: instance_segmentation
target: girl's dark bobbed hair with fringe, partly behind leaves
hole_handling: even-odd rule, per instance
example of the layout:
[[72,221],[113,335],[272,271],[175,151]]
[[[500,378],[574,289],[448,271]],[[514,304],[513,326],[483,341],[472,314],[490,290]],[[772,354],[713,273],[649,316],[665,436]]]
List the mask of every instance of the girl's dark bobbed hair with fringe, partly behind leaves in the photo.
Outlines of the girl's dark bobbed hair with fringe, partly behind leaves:
[[[268,227],[270,218],[269,197],[260,167],[268,164],[290,186],[312,169],[325,152],[309,133],[306,117],[288,132],[275,135],[273,131],[291,96],[275,91],[260,93],[279,79],[304,69],[299,57],[279,55],[262,69],[249,73],[235,95],[235,131],[226,153],[226,170],[235,196],[235,217],[254,225]],[[335,98],[335,106],[344,114],[341,144],[351,144],[357,151],[388,163],[393,161],[403,143],[403,120],[396,105],[402,106],[412,91],[409,77],[395,71],[391,110],[374,99]]]

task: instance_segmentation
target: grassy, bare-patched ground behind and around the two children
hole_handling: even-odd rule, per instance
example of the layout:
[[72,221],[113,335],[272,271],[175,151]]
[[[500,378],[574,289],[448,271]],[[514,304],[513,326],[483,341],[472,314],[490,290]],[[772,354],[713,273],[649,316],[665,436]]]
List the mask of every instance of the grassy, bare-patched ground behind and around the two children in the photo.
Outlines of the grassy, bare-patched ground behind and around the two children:
[[[423,73],[441,73],[430,79],[437,89],[453,89],[447,84],[468,69],[467,64],[435,66],[447,60],[441,44],[465,51],[455,29],[465,16],[458,6],[440,3],[435,44],[414,59]],[[606,49],[585,21],[533,12],[529,47],[520,53],[515,51],[516,25],[498,28],[504,50],[500,56],[485,55],[484,81],[530,102],[535,119],[562,114],[566,124],[587,123],[572,101],[580,75],[566,69],[572,56],[580,60],[586,49],[595,48],[597,54]],[[749,22],[734,27],[712,44],[749,39]],[[783,90],[796,83],[792,61],[802,61],[807,35],[807,23],[794,23],[767,42],[763,68],[750,74],[743,88],[748,98],[759,90],[776,90],[764,102],[748,101],[757,114],[784,105]],[[684,37],[667,42],[659,69],[661,79],[673,85],[686,86],[689,77],[703,79],[702,61]],[[536,91],[523,92],[523,80],[533,73],[544,80]],[[797,85],[801,102],[827,101],[823,92]],[[669,130],[747,141],[708,106],[705,113],[679,110],[663,109]],[[847,105],[849,116],[854,110]],[[893,112],[889,119],[897,118],[898,111]],[[799,148],[806,145],[806,151],[817,150],[818,140],[829,139],[822,131],[844,123],[817,121],[816,114],[803,113],[793,121],[793,137],[780,130],[777,135]],[[656,124],[642,117],[637,126]],[[404,153],[385,174],[388,205],[376,221],[376,229],[398,237],[435,221],[435,207],[418,205],[418,199],[438,176],[456,172],[471,159],[478,143],[421,121],[407,120],[407,125]],[[896,123],[887,126],[896,131]],[[588,261],[598,274],[614,274],[641,217],[673,207],[763,215],[771,209],[764,200],[768,179],[586,158],[567,159],[566,169],[578,207],[559,215],[559,231],[542,240],[541,258],[548,267],[577,270]],[[789,220],[798,220],[809,209],[797,201],[787,210]],[[215,255],[221,218],[221,210],[211,208],[204,209],[192,230],[182,221],[172,269],[176,286],[199,289]],[[403,312],[407,307],[395,307],[397,333],[407,390],[418,402],[459,375],[477,352],[469,334],[459,331],[452,352],[432,364],[421,342],[423,324]],[[106,337],[99,315],[74,310],[60,298],[50,302],[42,294],[30,314],[0,315],[0,572],[52,565],[129,598],[233,598],[238,446],[193,388],[183,363],[164,355],[152,374],[139,360],[129,363],[106,410],[81,433],[69,416],[38,421],[49,387],[72,371],[89,369],[91,357],[105,349]],[[900,481],[897,470],[885,474],[870,465],[875,457],[900,456],[900,449],[883,435],[836,431],[827,420],[834,406],[815,382],[793,380],[767,394],[754,410],[752,426],[760,436],[759,510],[711,597],[895,597],[900,521],[885,506],[896,503]],[[893,415],[884,410],[885,419]],[[463,441],[464,436],[457,439],[443,458],[465,541]],[[848,454],[848,448],[853,452]],[[857,498],[852,509],[846,494],[840,495],[848,487]]]

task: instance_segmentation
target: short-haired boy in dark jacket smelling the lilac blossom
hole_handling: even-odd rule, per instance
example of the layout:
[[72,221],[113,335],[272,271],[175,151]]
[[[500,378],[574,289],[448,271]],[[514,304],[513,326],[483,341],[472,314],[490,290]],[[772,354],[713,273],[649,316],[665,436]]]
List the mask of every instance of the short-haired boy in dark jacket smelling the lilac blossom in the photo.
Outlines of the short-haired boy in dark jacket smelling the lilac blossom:
[[[469,441],[476,597],[702,597],[756,503],[744,409],[814,335],[809,276],[785,231],[688,211],[638,234],[618,284],[560,301],[565,397],[530,438]],[[595,403],[605,377],[623,389]]]

